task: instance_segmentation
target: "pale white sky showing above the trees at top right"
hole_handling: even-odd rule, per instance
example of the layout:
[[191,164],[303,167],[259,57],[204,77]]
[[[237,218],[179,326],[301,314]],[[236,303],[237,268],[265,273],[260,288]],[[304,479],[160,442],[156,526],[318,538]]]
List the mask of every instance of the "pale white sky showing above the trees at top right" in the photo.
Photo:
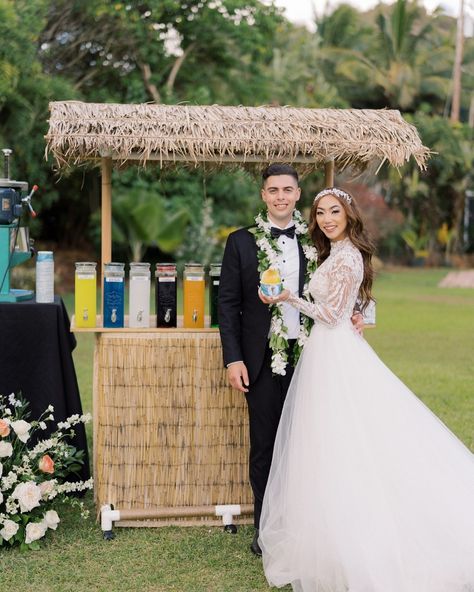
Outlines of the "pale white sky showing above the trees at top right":
[[[376,6],[378,0],[344,0],[347,4],[352,4],[359,10],[368,10]],[[324,7],[336,7],[341,4],[342,0],[275,0],[277,6],[286,9],[286,17],[298,24],[307,24],[311,28],[313,21],[313,8],[316,7],[318,11],[323,11]],[[386,1],[386,4],[392,2]],[[428,10],[434,10],[437,6],[442,6],[448,14],[456,16],[459,12],[460,0],[423,0],[423,4]],[[465,1],[466,5],[473,5],[470,0]],[[468,8],[466,6],[466,8]],[[471,12],[471,11],[469,11]]]

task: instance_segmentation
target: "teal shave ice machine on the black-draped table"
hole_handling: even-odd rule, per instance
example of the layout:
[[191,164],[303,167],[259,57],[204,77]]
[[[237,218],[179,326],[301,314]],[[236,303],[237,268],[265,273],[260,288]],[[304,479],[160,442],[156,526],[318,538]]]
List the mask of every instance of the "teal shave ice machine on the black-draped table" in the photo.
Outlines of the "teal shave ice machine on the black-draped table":
[[4,174],[0,178],[0,302],[18,302],[33,298],[32,290],[14,290],[10,288],[12,267],[28,261],[34,250],[30,246],[28,228],[20,227],[20,216],[26,206],[33,217],[31,197],[38,189],[33,186],[28,192],[28,183],[10,179],[9,148],[2,150],[4,156]]

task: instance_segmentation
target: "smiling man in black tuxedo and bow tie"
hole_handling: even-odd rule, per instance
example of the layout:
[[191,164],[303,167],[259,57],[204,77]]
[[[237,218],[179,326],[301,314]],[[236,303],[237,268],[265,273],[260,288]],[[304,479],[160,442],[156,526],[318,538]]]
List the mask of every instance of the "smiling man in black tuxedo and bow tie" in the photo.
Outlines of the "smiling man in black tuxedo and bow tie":
[[[306,259],[295,235],[293,210],[300,199],[298,173],[287,164],[272,164],[262,174],[262,200],[267,207],[271,236],[281,250],[280,274],[285,288],[301,295]],[[254,495],[255,536],[250,546],[261,555],[258,528],[263,495],[272,461],[273,445],[293,366],[285,375],[272,374],[269,347],[271,312],[258,297],[258,247],[252,228],[229,235],[219,285],[219,330],[229,383],[245,393],[250,426],[250,484]],[[282,232],[283,231],[283,232]],[[288,328],[289,360],[298,337],[299,312],[283,307]]]

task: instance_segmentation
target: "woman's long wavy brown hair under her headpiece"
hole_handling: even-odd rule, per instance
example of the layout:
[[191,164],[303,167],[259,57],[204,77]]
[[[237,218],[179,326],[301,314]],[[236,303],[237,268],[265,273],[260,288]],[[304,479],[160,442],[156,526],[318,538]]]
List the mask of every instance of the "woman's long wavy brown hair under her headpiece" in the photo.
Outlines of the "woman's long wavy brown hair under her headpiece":
[[[350,196],[351,203],[348,203],[344,197],[338,196],[337,193],[330,193],[330,190],[327,190],[327,195],[332,195],[335,197],[344,208],[347,216],[347,236],[350,238],[352,244],[357,247],[362,254],[362,259],[364,262],[364,277],[359,289],[359,300],[361,304],[361,310],[363,312],[367,308],[369,302],[373,299],[372,284],[374,281],[374,268],[372,265],[372,255],[375,252],[375,246],[364,228],[362,216],[354,197],[345,190],[344,193]],[[329,253],[331,251],[331,241],[318,226],[316,211],[318,209],[319,201],[319,199],[316,200],[311,208],[311,213],[309,216],[309,234],[314,246],[316,247],[316,250],[318,251],[318,263],[322,263],[329,257]]]

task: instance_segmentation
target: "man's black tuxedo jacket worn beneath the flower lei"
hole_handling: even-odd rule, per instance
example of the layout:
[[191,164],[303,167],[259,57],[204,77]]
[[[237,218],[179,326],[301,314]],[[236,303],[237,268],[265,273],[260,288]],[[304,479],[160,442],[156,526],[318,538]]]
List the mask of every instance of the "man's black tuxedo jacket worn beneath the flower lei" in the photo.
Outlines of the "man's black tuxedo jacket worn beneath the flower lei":
[[[250,383],[262,367],[270,331],[270,310],[258,297],[257,245],[249,228],[232,232],[222,260],[219,283],[219,331],[224,364],[242,360],[247,366]],[[306,271],[303,249],[300,251],[299,293]]]

